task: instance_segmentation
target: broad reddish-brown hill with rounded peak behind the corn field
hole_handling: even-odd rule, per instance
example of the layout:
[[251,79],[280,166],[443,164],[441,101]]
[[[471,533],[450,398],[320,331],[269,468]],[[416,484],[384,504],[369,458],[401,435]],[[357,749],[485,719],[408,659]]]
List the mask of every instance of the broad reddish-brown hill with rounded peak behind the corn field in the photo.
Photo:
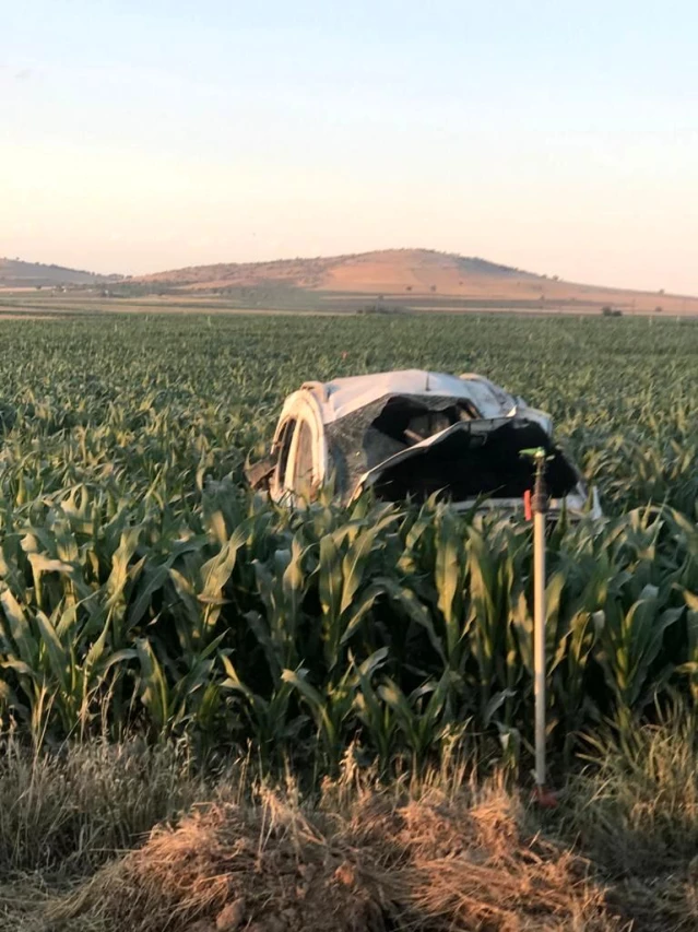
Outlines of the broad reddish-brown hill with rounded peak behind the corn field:
[[352,309],[370,295],[418,310],[507,306],[581,311],[608,306],[629,312],[698,314],[694,297],[566,282],[431,249],[192,266],[131,281],[168,292],[247,292],[250,296],[257,292],[262,303],[285,290],[295,293],[297,303],[305,294],[308,304],[336,309]]

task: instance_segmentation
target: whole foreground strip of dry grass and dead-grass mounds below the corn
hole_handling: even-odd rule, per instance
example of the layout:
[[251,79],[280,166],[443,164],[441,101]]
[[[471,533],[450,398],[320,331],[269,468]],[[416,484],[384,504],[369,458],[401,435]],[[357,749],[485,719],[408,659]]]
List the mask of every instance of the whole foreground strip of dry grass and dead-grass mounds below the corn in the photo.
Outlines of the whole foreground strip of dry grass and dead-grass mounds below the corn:
[[291,778],[250,783],[244,762],[202,776],[177,748],[10,743],[0,930],[698,929],[693,716],[595,755],[544,813],[461,760],[386,786],[347,754],[304,799]]

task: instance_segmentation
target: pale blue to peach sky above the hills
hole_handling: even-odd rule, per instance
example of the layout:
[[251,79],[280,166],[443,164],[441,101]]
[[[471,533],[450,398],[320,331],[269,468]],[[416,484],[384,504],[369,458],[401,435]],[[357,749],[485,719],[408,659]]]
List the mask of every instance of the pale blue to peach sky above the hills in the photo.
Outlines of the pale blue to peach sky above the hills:
[[689,0],[0,0],[0,256],[698,294],[696,36]]

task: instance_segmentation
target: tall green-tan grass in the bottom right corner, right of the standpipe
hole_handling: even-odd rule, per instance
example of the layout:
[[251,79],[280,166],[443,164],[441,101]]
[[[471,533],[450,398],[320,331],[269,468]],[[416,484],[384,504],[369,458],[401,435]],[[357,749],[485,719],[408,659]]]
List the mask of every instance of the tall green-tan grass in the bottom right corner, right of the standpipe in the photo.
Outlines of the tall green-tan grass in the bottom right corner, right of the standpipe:
[[608,878],[610,901],[637,932],[698,929],[698,729],[671,711],[623,748],[598,740],[594,763],[573,775],[549,826]]

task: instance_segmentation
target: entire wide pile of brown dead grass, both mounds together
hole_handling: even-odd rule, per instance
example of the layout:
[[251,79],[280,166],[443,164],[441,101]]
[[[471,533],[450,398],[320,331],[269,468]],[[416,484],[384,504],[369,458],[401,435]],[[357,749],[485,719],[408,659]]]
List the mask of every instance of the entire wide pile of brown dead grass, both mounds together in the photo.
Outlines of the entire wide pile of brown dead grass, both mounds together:
[[622,924],[587,863],[525,830],[504,790],[476,799],[364,792],[353,812],[277,794],[159,828],[49,910],[110,932],[587,930]]

